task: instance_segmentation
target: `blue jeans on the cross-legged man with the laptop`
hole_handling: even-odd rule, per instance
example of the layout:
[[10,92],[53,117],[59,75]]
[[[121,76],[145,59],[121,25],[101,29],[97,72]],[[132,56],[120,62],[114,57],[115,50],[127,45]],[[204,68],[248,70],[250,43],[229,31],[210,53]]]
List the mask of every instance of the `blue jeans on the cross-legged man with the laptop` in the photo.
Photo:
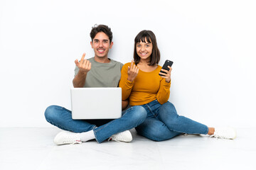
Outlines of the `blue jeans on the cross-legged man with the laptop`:
[[118,132],[137,127],[146,119],[142,106],[133,106],[122,112],[122,118],[114,120],[73,120],[71,111],[60,106],[49,106],[45,112],[48,123],[62,130],[87,132],[93,130],[95,139],[101,143]]

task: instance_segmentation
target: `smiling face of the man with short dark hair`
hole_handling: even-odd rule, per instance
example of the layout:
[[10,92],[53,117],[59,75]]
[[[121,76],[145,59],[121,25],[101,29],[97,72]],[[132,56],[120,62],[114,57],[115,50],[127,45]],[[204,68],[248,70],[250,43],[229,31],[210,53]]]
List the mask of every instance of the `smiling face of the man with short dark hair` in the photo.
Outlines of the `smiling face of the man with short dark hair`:
[[109,50],[112,48],[113,42],[110,43],[110,38],[105,33],[97,33],[92,42],[93,50],[95,51],[95,57],[107,57]]

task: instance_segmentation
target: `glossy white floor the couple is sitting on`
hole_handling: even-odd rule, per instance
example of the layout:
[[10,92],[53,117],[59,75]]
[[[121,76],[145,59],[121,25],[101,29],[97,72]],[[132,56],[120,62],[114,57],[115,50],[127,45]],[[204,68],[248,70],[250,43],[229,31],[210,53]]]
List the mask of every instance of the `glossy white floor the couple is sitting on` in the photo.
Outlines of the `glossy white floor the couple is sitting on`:
[[198,135],[154,142],[132,129],[130,143],[95,140],[56,146],[58,128],[0,128],[0,169],[256,169],[256,136],[235,140]]

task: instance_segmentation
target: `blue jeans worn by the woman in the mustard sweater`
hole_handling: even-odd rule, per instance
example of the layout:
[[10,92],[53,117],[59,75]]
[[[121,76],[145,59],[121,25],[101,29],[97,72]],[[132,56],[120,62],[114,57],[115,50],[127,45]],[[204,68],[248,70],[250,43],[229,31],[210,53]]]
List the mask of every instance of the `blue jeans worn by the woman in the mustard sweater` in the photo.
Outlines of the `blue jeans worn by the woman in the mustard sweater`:
[[161,105],[157,100],[142,105],[147,117],[144,123],[135,128],[139,135],[150,140],[169,140],[181,133],[207,134],[208,127],[194,120],[180,116],[172,103],[167,101]]

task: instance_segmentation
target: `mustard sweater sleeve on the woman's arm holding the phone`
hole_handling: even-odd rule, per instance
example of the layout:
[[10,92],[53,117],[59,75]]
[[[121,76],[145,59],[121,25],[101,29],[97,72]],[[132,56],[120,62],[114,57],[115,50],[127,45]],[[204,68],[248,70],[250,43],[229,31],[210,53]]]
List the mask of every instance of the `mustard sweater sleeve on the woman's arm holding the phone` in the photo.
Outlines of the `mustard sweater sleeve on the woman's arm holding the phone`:
[[171,81],[167,83],[164,78],[161,79],[160,88],[156,95],[156,99],[159,101],[159,103],[164,104],[168,101],[170,96],[170,87]]

